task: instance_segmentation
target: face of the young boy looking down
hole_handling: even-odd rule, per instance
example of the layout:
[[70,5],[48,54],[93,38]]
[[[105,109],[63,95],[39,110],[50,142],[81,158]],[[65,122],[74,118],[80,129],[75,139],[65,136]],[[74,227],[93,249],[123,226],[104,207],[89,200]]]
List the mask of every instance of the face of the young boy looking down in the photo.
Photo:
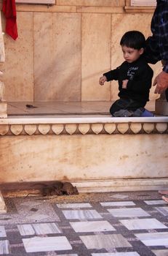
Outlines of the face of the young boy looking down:
[[134,48],[129,48],[125,45],[121,45],[121,48],[122,48],[124,59],[128,63],[132,63],[132,62],[136,61],[137,59],[139,59],[140,55],[143,54],[143,51],[144,51],[143,48],[140,48],[140,50],[137,50]]

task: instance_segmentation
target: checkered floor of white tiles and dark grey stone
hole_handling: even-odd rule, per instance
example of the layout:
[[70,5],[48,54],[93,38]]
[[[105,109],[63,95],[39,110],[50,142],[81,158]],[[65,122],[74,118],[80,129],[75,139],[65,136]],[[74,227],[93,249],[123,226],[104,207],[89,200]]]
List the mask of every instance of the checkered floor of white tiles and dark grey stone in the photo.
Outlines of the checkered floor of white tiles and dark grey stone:
[[5,203],[0,255],[168,255],[168,205],[157,192],[13,197]]

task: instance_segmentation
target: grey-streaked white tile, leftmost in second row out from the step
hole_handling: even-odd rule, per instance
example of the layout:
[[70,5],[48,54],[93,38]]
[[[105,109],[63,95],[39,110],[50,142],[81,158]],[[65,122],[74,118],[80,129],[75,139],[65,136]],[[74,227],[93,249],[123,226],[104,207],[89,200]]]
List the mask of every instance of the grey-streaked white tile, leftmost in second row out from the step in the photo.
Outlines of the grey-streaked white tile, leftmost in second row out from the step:
[[95,210],[71,210],[63,211],[66,219],[102,219]]

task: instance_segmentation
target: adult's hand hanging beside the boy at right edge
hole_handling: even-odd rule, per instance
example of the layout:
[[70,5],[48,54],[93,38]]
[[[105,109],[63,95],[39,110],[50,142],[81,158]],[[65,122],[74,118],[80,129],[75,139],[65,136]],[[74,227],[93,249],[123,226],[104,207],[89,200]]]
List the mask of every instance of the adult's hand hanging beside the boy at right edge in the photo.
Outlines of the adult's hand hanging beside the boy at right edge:
[[162,94],[168,88],[168,73],[162,71],[156,76],[153,81],[153,86],[156,86],[155,94]]

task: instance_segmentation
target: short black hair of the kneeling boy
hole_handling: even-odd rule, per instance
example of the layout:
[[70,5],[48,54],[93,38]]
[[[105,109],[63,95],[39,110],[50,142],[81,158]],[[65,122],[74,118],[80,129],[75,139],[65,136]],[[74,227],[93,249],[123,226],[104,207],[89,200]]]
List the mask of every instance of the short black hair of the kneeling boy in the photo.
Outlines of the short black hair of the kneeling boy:
[[145,48],[145,37],[140,31],[127,31],[121,37],[120,45],[140,50],[140,48]]

